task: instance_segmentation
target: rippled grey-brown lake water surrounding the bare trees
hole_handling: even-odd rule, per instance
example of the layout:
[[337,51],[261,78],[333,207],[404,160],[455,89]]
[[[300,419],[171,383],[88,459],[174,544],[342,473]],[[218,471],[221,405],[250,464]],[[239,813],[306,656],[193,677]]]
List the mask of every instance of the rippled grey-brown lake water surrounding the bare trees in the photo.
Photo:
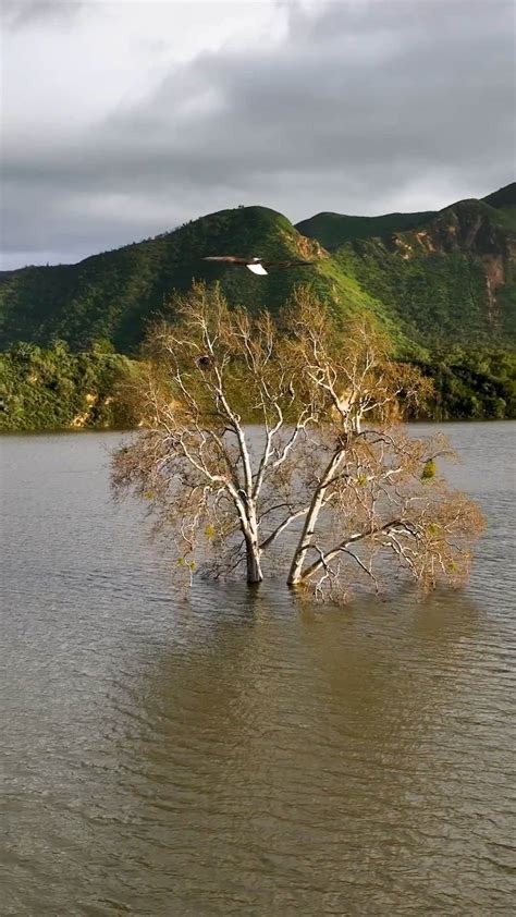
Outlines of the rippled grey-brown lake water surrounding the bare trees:
[[470,586],[341,610],[177,592],[120,436],[1,439],[2,915],[514,913],[516,425],[446,431]]

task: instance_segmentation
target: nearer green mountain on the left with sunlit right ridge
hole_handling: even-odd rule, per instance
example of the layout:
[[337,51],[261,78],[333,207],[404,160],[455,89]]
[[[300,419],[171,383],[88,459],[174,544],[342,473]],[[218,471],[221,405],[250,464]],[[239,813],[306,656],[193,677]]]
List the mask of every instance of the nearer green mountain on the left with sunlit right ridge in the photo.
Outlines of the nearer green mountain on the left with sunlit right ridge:
[[[218,253],[280,259],[302,256],[316,264],[257,278],[245,268],[202,260]],[[78,265],[0,272],[0,346],[16,340],[46,344],[60,338],[81,349],[108,339],[116,350],[132,352],[147,320],[163,310],[171,291],[187,290],[194,278],[220,281],[230,302],[251,309],[274,310],[294,284],[306,280],[321,295],[337,297],[348,308],[377,308],[318,242],[302,236],[281,213],[246,207],[210,213]]]

